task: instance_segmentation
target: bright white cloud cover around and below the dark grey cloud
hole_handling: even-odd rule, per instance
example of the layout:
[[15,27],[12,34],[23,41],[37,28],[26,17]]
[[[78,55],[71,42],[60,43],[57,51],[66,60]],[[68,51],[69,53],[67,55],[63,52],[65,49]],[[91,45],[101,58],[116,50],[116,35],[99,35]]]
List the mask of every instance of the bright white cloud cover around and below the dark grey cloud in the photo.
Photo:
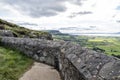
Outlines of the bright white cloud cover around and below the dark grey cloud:
[[[64,0],[62,1],[64,2]],[[25,21],[29,23],[32,22],[40,26],[31,27],[32,29],[58,29],[61,27],[96,26],[97,29],[91,30],[91,32],[120,32],[120,23],[116,22],[116,20],[120,20],[120,10],[116,9],[118,6],[120,6],[120,0],[82,0],[82,5],[81,1],[79,0],[65,1],[65,11],[57,13],[58,15],[56,16],[40,18],[33,18],[29,15],[23,15],[14,7],[9,5],[3,6],[1,3],[0,5],[2,5],[3,7],[1,7],[0,12],[2,11],[2,14],[5,13],[5,15],[0,14],[0,17],[4,19],[7,18],[11,20]],[[79,1],[79,4],[77,4],[77,1]],[[32,4],[29,4],[29,6],[30,5]],[[63,7],[63,4],[61,6]],[[5,11],[6,9],[8,11]],[[73,18],[68,17],[71,16],[73,13],[79,13],[84,11],[89,11],[92,13],[86,15],[76,14]]]

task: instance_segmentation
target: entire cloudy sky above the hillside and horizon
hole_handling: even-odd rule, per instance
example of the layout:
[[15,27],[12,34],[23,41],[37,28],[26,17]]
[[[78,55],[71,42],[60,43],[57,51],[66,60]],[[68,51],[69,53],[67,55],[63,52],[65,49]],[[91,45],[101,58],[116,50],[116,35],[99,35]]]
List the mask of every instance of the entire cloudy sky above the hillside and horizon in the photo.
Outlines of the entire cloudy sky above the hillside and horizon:
[[0,0],[0,6],[0,18],[31,29],[120,32],[120,0]]

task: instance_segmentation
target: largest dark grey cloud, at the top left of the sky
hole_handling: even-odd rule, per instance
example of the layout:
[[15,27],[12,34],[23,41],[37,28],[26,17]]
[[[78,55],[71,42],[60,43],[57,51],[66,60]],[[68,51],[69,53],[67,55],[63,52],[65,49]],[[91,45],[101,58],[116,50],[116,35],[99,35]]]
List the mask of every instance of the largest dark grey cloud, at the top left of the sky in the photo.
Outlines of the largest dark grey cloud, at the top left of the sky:
[[64,2],[67,0],[2,0],[19,12],[31,17],[54,16],[66,11]]

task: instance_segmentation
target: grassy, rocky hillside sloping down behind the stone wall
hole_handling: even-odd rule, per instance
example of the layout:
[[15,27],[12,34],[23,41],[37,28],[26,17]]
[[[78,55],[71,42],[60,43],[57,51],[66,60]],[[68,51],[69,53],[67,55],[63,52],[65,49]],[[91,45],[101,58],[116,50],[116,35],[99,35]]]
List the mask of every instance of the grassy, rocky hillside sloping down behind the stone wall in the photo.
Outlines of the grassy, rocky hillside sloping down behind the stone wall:
[[48,32],[26,29],[2,19],[0,19],[0,30],[10,30],[14,34],[14,37],[41,38],[52,40],[52,35]]

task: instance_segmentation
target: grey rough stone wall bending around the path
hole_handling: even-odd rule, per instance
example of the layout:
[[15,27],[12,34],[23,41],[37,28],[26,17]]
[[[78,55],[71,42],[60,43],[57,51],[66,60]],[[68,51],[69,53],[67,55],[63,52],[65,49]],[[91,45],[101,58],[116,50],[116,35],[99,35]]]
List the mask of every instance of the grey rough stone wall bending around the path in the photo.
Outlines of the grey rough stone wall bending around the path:
[[120,80],[120,60],[78,44],[28,38],[1,38],[34,60],[54,66],[63,80]]

